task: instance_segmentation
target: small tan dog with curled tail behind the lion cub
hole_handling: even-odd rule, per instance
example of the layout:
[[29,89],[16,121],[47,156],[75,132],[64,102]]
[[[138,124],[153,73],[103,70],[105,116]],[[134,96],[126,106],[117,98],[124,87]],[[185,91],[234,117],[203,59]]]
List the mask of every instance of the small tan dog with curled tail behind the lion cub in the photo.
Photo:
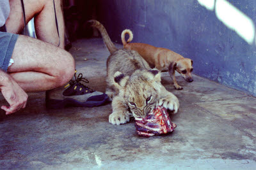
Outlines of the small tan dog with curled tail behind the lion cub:
[[[129,39],[125,41],[125,34],[129,34]],[[193,60],[184,58],[178,53],[166,48],[157,48],[156,46],[144,43],[129,43],[132,41],[133,34],[131,30],[125,29],[121,35],[122,43],[125,49],[135,50],[147,60],[150,67],[156,67],[159,71],[168,71],[175,89],[182,90],[175,78],[175,70],[188,82],[192,82],[191,72],[193,71]],[[129,43],[129,44],[128,44]]]

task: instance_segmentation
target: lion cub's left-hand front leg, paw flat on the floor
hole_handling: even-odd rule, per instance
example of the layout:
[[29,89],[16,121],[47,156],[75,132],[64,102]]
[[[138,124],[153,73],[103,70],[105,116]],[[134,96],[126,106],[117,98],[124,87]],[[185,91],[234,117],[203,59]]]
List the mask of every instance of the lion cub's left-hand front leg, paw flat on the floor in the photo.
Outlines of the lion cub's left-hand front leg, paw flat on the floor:
[[129,111],[127,110],[127,105],[124,103],[122,97],[113,97],[112,110],[113,112],[109,115],[109,123],[120,125],[129,122]]

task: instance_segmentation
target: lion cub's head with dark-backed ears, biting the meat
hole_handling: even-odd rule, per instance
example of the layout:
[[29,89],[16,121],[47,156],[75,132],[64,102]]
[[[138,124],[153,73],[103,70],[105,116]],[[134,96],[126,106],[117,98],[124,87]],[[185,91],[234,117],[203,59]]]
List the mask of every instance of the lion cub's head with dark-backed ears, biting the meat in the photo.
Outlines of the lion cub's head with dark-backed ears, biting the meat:
[[119,96],[132,111],[133,117],[145,118],[155,107],[161,90],[161,75],[157,69],[135,71],[130,77],[120,72],[115,74]]

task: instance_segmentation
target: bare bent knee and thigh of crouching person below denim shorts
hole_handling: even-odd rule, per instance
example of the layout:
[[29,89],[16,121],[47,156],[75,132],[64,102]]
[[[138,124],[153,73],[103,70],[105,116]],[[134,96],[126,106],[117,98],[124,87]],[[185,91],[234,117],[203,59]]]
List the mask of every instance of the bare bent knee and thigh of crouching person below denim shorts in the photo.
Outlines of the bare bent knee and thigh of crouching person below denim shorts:
[[75,72],[72,55],[44,41],[19,36],[8,67],[12,78],[26,92],[39,92],[61,87]]

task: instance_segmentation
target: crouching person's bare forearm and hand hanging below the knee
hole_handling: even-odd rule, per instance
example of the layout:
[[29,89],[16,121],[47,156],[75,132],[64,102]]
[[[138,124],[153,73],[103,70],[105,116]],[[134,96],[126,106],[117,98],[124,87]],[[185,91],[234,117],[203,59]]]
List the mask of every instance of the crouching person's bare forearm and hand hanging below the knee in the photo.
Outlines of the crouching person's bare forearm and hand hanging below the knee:
[[6,115],[26,107],[28,94],[9,74],[2,70],[0,70],[0,90],[4,99],[10,104],[10,106],[1,106],[1,109],[6,111]]

